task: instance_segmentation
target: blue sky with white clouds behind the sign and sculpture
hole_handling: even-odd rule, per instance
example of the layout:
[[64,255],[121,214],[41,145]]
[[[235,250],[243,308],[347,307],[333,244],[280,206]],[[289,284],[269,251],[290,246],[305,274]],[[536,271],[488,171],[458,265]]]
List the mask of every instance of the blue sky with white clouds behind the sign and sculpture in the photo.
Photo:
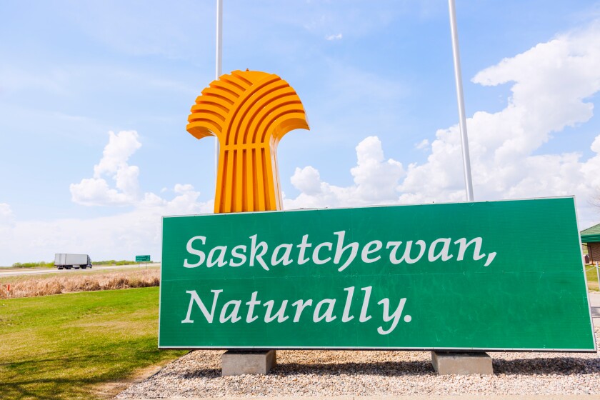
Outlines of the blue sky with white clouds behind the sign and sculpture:
[[[599,223],[600,2],[456,13],[475,199],[575,195]],[[161,215],[211,211],[214,144],[185,126],[214,14],[0,2],[0,265],[159,259]],[[279,145],[286,209],[464,200],[446,1],[224,0],[223,39],[224,73],[278,74],[309,116]]]

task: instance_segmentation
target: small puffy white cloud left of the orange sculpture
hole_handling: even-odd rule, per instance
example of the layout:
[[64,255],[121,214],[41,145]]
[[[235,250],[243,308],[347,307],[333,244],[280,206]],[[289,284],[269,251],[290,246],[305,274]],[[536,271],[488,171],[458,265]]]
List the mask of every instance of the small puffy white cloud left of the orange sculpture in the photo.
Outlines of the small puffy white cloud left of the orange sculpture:
[[[94,177],[71,184],[71,199],[86,206],[125,206],[139,199],[139,168],[127,164],[129,157],[141,147],[136,131],[109,131],[109,143],[102,159],[94,166]],[[111,189],[103,176],[115,183]]]

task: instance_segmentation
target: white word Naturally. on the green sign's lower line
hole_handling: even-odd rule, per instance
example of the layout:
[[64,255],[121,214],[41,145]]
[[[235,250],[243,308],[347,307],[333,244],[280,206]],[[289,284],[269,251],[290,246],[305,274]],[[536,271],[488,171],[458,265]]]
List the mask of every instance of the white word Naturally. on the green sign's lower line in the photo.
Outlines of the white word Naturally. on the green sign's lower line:
[[[373,286],[366,286],[361,288],[363,291],[363,299],[361,305],[361,312],[358,317],[359,323],[369,321],[372,316],[369,314],[369,304],[371,301],[371,289]],[[350,307],[354,298],[354,286],[344,288],[346,291],[346,302],[344,303],[344,311],[341,312],[341,322],[346,323],[354,319],[354,315],[351,315]],[[194,319],[191,319],[192,311],[194,310],[194,304],[198,306],[204,319],[209,324],[214,321],[219,321],[219,324],[235,324],[241,321],[240,308],[242,303],[247,306],[245,307],[246,324],[251,324],[257,319],[260,319],[267,324],[269,322],[276,321],[277,324],[284,323],[286,321],[292,324],[299,322],[301,319],[312,319],[312,322],[319,323],[321,321],[331,322],[337,319],[338,315],[336,310],[341,311],[339,307],[336,309],[336,299],[322,299],[316,301],[314,299],[299,299],[294,303],[289,304],[289,300],[282,300],[279,306],[279,311],[274,312],[275,300],[269,300],[262,302],[259,300],[259,292],[252,292],[249,301],[244,303],[241,299],[229,300],[221,306],[221,312],[219,313],[218,319],[216,317],[216,307],[219,304],[219,294],[223,293],[223,289],[211,290],[212,293],[212,306],[211,311],[206,307],[204,301],[198,295],[195,290],[188,290],[186,294],[189,294],[189,306],[186,314],[186,319],[181,321],[181,324],[193,324]],[[402,315],[404,304],[406,304],[406,298],[400,299],[398,306],[395,309],[390,309],[390,300],[387,298],[381,299],[377,302],[381,308],[381,319],[384,323],[390,323],[387,329],[384,329],[384,324],[381,324],[377,328],[377,333],[380,335],[390,334],[396,326]],[[261,307],[262,305],[262,307]],[[392,311],[392,312],[390,312]],[[404,316],[404,322],[408,323],[412,320],[410,315]]]

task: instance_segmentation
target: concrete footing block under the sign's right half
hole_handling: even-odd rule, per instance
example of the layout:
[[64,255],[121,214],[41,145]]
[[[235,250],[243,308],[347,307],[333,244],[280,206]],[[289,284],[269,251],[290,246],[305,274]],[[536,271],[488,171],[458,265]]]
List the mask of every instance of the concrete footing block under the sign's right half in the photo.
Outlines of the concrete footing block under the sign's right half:
[[494,374],[491,357],[487,353],[431,351],[431,364],[439,375]]

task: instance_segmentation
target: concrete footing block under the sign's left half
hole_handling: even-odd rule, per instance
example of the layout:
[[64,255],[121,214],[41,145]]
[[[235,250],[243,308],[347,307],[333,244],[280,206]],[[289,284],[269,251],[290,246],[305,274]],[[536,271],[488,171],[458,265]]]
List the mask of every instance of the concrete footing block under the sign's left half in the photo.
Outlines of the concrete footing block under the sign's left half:
[[276,365],[277,356],[275,350],[228,350],[221,356],[221,374],[223,376],[268,374],[269,370]]

